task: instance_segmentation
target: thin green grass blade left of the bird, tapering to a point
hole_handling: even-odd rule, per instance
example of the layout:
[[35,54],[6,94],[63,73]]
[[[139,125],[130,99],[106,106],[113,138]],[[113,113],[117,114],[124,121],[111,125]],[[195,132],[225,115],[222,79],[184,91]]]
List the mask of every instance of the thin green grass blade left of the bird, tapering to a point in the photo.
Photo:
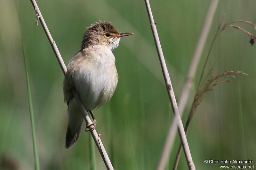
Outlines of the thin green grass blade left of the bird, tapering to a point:
[[26,70],[26,80],[27,80],[27,90],[28,90],[28,105],[29,105],[30,122],[31,122],[31,130],[32,130],[32,140],[33,140],[33,151],[34,151],[34,163],[35,163],[35,170],[39,170],[39,160],[38,160],[38,153],[37,153],[37,146],[36,146],[36,131],[35,131],[33,104],[32,104],[32,98],[31,98],[31,90],[30,90],[29,77],[28,77],[28,68],[27,68],[23,43],[22,43],[22,50],[23,50],[24,65],[25,65],[25,70]]

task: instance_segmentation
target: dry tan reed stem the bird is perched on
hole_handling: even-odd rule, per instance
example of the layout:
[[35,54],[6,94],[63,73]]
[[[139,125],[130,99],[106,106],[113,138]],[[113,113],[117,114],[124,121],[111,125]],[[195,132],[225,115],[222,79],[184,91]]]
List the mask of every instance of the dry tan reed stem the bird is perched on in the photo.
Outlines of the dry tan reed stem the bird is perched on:
[[[62,57],[60,55],[60,52],[58,50],[58,47],[57,47],[55,41],[52,39],[52,36],[50,34],[50,31],[48,30],[48,27],[47,27],[46,23],[44,22],[44,18],[42,16],[42,14],[41,14],[37,4],[36,4],[36,1],[35,0],[30,0],[30,1],[31,1],[35,11],[36,11],[36,18],[37,18],[36,19],[36,24],[37,24],[37,20],[40,19],[40,22],[41,22],[41,24],[42,24],[42,26],[44,28],[44,32],[45,32],[45,34],[46,34],[46,36],[47,36],[47,38],[48,38],[48,40],[49,40],[49,42],[50,42],[50,44],[52,46],[52,50],[54,51],[54,53],[56,55],[56,58],[57,58],[57,60],[58,60],[58,62],[60,64],[61,70],[62,70],[63,74],[65,75],[65,77],[68,79],[68,76],[66,74],[67,67],[66,67],[66,65],[65,65],[65,63],[64,63],[64,61],[63,61],[63,59],[62,59]],[[86,109],[84,108],[84,105],[83,105],[83,103],[82,103],[82,101],[81,101],[81,99],[79,97],[79,94],[76,92],[76,89],[72,90],[72,93],[73,93],[73,95],[74,95],[74,97],[76,99],[77,104],[80,107],[80,110],[81,110],[81,112],[83,114],[83,117],[84,117],[84,120],[85,120],[86,124],[92,123],[92,121],[91,121],[91,119],[90,119],[90,117],[89,117]],[[104,148],[104,146],[103,146],[103,144],[102,144],[102,142],[100,140],[100,137],[99,137],[98,133],[94,129],[93,131],[91,131],[91,134],[92,134],[92,138],[94,139],[94,142],[95,142],[95,144],[96,144],[96,146],[97,146],[97,148],[98,148],[98,150],[100,152],[100,155],[101,155],[101,157],[102,157],[102,159],[103,159],[107,169],[108,170],[114,170],[114,168],[113,168],[113,166],[112,166],[112,164],[110,162],[110,159],[108,158],[108,154],[107,154],[107,152],[106,152],[106,150],[105,150],[105,148]]]

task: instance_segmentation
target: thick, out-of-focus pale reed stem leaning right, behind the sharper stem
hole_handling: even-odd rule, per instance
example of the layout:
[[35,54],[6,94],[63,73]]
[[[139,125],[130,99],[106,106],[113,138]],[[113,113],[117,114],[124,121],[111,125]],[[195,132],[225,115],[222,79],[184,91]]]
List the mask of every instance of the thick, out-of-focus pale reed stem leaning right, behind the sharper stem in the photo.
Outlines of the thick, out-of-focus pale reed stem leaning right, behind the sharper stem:
[[[184,84],[184,87],[183,87],[181,95],[180,95],[179,107],[178,107],[179,111],[180,111],[180,117],[182,117],[185,106],[186,106],[186,103],[188,101],[189,91],[190,91],[190,88],[192,86],[192,82],[193,82],[193,79],[195,77],[195,74],[196,74],[196,69],[197,69],[200,57],[202,55],[203,49],[204,49],[206,38],[207,38],[209,30],[211,28],[212,20],[213,20],[216,8],[218,6],[218,3],[219,3],[219,0],[212,0],[211,1],[211,4],[210,4],[208,12],[207,12],[207,15],[205,17],[204,26],[203,26],[200,38],[199,38],[198,43],[197,43],[195,53],[194,53],[193,58],[191,60],[190,67],[188,69],[186,82]],[[165,166],[167,159],[169,159],[169,156],[170,156],[170,153],[171,153],[171,150],[172,150],[172,146],[173,146],[173,143],[174,143],[174,139],[175,139],[175,136],[176,136],[176,133],[177,133],[176,128],[177,128],[177,123],[176,123],[176,120],[173,119],[172,124],[169,128],[167,138],[165,140],[165,145],[164,145],[163,151],[161,153],[161,160],[159,161],[158,166]],[[165,158],[165,156],[167,158]],[[162,160],[162,159],[165,159],[165,161]],[[160,164],[164,164],[164,165],[160,165]]]

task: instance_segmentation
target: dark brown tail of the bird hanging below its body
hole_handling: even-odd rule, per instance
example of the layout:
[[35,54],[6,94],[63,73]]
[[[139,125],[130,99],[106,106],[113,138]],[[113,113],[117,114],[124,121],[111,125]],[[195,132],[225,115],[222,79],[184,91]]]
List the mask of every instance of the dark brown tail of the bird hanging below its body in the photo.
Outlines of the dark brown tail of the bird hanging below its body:
[[70,101],[68,105],[68,128],[66,133],[66,149],[70,149],[80,136],[83,127],[83,117],[76,104]]

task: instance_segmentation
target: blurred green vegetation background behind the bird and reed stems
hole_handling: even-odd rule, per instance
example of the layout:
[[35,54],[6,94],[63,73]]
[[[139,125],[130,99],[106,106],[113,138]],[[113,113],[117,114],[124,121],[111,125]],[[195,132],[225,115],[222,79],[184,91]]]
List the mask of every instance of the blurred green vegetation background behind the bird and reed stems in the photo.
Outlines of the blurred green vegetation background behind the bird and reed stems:
[[[150,1],[177,100],[200,35],[210,0]],[[94,110],[97,132],[115,169],[155,169],[172,122],[172,109],[143,0],[38,0],[37,4],[64,62],[80,50],[85,27],[111,21],[121,39],[113,51],[119,82],[112,100]],[[222,0],[196,73],[186,120],[210,44],[223,14],[223,23],[256,23],[255,0]],[[28,64],[35,113],[36,139],[42,170],[89,169],[89,133],[66,150],[67,106],[63,100],[63,74],[29,0],[0,0],[0,159],[19,170],[34,169],[31,126],[22,43]],[[238,23],[255,34],[252,26]],[[212,49],[208,70],[213,75],[241,70],[249,76],[225,78],[199,105],[188,132],[197,169],[215,170],[205,159],[253,160],[256,163],[256,48],[234,28],[222,32]],[[171,169],[180,139],[171,153]],[[96,168],[106,169],[96,149]],[[0,169],[3,169],[3,166]],[[182,152],[178,169],[188,169]]]

